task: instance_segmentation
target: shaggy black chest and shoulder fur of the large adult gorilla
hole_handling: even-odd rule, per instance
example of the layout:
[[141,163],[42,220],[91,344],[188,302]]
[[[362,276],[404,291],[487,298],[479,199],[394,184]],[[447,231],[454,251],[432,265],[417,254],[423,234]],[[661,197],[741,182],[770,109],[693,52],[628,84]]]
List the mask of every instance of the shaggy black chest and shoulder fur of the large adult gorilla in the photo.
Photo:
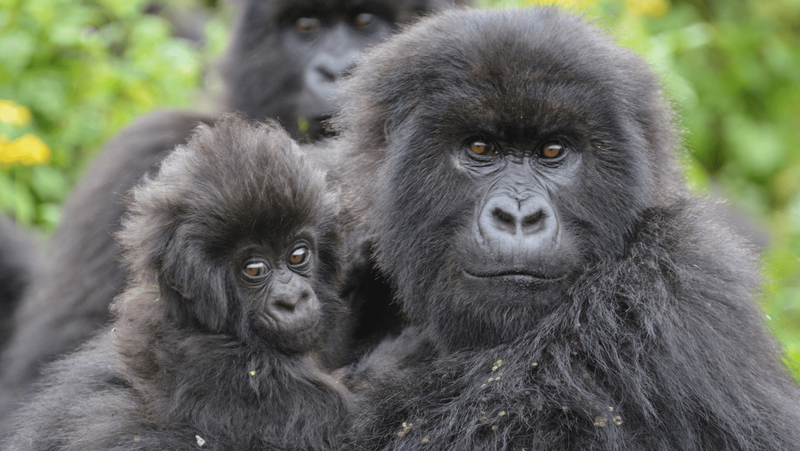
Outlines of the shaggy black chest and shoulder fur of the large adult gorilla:
[[800,397],[752,305],[750,257],[695,233],[693,211],[650,212],[622,258],[587,268],[513,343],[431,355],[375,383],[354,440],[397,450],[794,449]]

